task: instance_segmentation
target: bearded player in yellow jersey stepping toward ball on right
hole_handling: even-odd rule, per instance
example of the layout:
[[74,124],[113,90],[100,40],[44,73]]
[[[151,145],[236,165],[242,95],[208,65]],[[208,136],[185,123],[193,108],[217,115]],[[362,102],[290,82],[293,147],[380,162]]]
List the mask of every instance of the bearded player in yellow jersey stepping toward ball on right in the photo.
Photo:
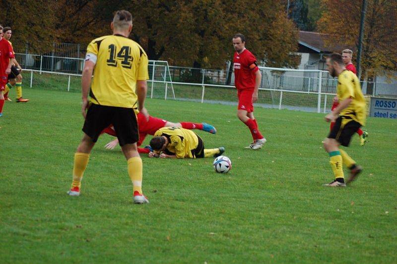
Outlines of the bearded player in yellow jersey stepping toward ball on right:
[[[362,168],[345,151],[339,149],[339,145],[348,147],[350,139],[357,129],[365,125],[366,102],[357,76],[346,70],[342,55],[332,53],[327,58],[327,67],[331,76],[338,78],[336,93],[339,98],[339,105],[325,117],[327,122],[335,122],[324,142],[324,148],[330,155],[331,168],[335,179],[324,185],[345,187],[346,183],[357,177]],[[350,170],[350,177],[346,183],[343,165]]]

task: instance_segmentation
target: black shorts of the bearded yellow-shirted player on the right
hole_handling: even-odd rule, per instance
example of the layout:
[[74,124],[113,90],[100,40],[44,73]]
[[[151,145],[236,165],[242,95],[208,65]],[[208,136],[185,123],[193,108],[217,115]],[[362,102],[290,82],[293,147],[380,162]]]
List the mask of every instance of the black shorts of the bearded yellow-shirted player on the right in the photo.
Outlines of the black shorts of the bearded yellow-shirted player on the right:
[[360,127],[361,124],[357,121],[354,121],[349,117],[339,116],[338,119],[336,119],[328,138],[334,138],[340,143],[340,145],[348,147],[351,137]]

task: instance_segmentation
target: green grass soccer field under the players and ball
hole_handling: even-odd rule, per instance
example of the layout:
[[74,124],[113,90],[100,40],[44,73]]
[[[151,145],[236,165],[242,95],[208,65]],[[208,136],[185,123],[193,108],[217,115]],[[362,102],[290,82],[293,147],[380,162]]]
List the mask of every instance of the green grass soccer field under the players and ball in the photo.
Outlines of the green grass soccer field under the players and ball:
[[225,146],[233,169],[143,156],[150,204],[134,205],[120,148],[104,149],[108,135],[81,195],[66,195],[82,137],[79,93],[24,88],[24,97],[0,118],[1,263],[397,262],[396,120],[368,119],[369,143],[355,136],[347,150],[364,172],[333,189],[322,186],[332,180],[323,114],[257,108],[268,142],[251,151],[235,106],[149,99],[153,116],[214,124],[216,135],[197,133]]

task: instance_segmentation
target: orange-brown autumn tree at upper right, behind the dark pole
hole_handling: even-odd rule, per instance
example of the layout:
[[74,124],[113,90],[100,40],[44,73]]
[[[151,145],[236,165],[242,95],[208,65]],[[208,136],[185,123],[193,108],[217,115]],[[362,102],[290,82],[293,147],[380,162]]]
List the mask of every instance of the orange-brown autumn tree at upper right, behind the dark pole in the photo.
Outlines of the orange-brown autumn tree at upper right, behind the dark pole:
[[[322,0],[318,29],[335,41],[358,48],[361,0]],[[392,75],[397,70],[397,1],[367,0],[361,55],[362,76]]]

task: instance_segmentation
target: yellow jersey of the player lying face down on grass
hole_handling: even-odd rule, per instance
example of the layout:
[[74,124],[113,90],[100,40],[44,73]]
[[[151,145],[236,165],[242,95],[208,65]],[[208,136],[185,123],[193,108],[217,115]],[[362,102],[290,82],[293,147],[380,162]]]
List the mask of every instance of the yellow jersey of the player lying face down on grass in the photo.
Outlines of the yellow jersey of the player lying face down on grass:
[[162,127],[154,133],[155,137],[165,136],[169,144],[168,152],[174,153],[177,158],[195,158],[192,150],[199,145],[199,138],[195,132],[185,128]]

